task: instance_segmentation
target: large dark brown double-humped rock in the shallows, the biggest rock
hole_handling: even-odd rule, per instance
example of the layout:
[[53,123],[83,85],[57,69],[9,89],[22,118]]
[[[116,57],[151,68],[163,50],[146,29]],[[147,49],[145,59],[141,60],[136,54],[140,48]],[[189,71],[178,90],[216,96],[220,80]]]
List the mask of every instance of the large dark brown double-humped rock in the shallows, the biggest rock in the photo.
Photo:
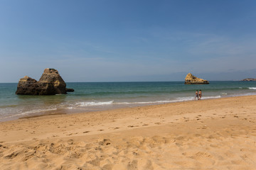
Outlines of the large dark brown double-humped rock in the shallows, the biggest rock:
[[16,94],[18,95],[55,95],[67,94],[65,81],[58,74],[57,69],[45,69],[39,81],[25,76],[18,81]]

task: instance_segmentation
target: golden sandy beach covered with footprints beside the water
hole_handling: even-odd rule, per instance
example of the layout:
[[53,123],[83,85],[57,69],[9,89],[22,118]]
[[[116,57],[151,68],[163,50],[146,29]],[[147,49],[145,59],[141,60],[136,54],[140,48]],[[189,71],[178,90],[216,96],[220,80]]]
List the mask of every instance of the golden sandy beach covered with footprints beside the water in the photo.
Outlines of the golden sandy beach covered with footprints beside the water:
[[0,123],[0,169],[256,169],[256,96]]

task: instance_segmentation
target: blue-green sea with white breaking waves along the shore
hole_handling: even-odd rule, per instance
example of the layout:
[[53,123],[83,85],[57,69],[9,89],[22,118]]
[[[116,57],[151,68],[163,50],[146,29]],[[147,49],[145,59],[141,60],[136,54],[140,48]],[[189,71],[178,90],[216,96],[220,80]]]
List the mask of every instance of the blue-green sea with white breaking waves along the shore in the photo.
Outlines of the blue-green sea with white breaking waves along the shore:
[[21,96],[15,94],[16,83],[1,83],[0,121],[192,101],[200,89],[202,100],[256,95],[256,81],[210,81],[202,85],[186,85],[183,81],[66,84],[75,91],[54,96]]

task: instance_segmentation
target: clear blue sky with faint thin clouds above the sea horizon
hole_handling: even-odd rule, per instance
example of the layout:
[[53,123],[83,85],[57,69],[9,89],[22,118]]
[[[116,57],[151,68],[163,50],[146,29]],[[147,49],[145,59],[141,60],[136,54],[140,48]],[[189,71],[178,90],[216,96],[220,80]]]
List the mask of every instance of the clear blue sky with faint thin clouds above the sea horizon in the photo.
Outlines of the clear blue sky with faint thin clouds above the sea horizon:
[[256,1],[0,0],[0,82],[256,77]]

